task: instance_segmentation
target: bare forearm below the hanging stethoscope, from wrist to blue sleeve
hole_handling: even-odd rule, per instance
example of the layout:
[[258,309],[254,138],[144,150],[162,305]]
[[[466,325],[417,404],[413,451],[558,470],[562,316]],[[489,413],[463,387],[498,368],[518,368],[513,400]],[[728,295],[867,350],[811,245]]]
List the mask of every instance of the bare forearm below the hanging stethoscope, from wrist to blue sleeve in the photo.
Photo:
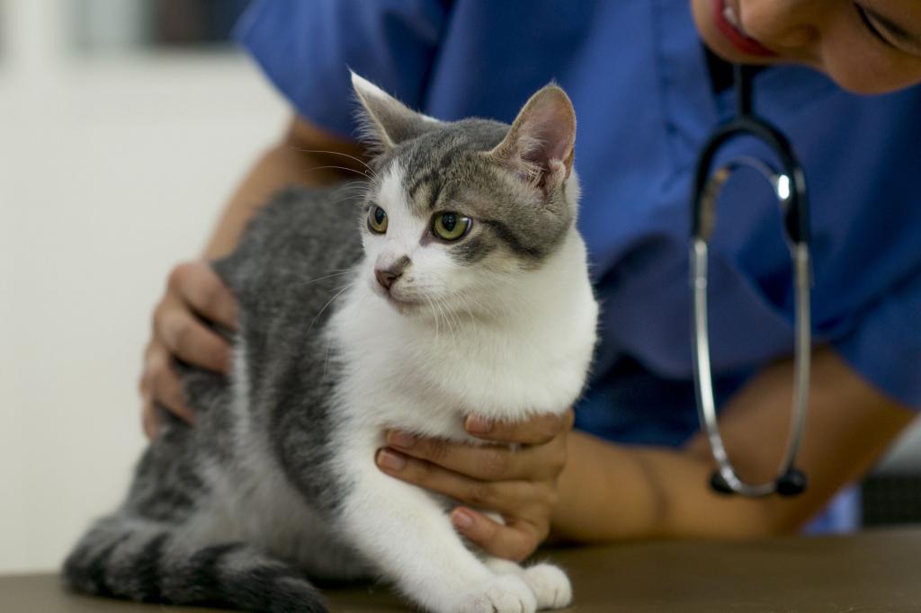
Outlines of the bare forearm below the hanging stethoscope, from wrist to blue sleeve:
[[[773,364],[720,415],[720,430],[745,480],[775,477],[787,443],[792,362]],[[615,409],[612,409],[615,410]],[[841,487],[864,474],[914,413],[870,387],[832,350],[813,352],[810,413],[798,466],[810,486],[794,497],[747,499],[712,492],[705,437],[682,448],[570,438],[554,513],[559,538],[743,538],[796,530]]]

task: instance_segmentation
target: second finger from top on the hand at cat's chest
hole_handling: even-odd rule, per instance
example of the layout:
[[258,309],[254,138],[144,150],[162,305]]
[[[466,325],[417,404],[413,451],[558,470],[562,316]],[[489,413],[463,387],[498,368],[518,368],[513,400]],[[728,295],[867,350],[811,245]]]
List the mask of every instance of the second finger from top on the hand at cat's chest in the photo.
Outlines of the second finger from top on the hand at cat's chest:
[[565,465],[565,440],[513,449],[507,445],[465,445],[418,438],[401,431],[387,433],[387,444],[406,456],[426,460],[476,480],[542,480],[555,478]]

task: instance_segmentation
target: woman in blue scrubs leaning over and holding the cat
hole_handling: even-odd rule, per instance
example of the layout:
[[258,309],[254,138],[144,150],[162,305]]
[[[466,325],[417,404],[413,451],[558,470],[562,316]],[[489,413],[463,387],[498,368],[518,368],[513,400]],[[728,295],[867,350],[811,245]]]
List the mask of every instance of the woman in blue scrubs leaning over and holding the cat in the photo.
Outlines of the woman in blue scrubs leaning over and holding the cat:
[[[154,403],[194,420],[174,357],[227,370],[227,344],[201,319],[232,328],[235,304],[205,261],[233,248],[274,191],[351,174],[328,167],[360,168],[335,155],[364,156],[346,66],[442,120],[510,121],[555,79],[577,110],[579,228],[603,311],[591,385],[563,422],[468,419],[472,434],[519,443],[517,452],[390,433],[379,468],[461,501],[457,529],[516,560],[551,533],[744,538],[810,520],[854,524],[853,501],[822,509],[921,409],[916,0],[268,1],[238,33],[288,98],[292,121],[240,183],[202,260],[170,274],[141,383],[148,435]],[[727,60],[762,66],[755,105],[790,137],[811,188],[814,349],[799,459],[810,488],[794,499],[712,492],[697,431],[691,175],[705,135],[732,111]],[[793,304],[780,215],[750,179],[727,187],[709,283],[720,426],[741,475],[758,481],[773,476],[787,437]]]

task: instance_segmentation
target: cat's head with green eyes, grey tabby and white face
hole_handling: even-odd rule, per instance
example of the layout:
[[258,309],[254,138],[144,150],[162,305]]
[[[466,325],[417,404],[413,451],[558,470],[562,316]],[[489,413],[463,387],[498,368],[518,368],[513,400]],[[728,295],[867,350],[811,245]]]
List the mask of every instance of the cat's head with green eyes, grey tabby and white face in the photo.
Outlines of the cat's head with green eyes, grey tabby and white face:
[[437,121],[353,74],[374,177],[361,227],[364,282],[402,313],[501,308],[576,220],[576,115],[560,87],[508,126]]

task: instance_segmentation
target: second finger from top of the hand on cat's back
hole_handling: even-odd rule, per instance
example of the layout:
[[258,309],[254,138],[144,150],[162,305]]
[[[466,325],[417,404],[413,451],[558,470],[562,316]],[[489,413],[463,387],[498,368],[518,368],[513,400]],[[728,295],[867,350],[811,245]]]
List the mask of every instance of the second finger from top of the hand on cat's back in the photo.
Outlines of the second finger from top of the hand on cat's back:
[[217,373],[230,367],[230,345],[174,301],[164,301],[154,316],[154,334],[183,362]]

